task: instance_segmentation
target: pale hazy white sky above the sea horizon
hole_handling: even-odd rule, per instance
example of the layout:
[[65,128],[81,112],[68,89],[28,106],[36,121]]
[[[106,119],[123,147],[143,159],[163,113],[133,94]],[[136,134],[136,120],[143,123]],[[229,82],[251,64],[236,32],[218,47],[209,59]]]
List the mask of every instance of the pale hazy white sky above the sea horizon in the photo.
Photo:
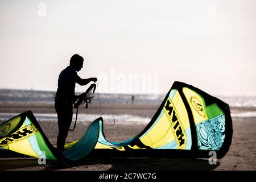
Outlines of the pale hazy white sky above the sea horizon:
[[79,76],[103,77],[102,92],[167,93],[183,81],[256,96],[255,17],[245,0],[0,1],[0,88],[56,90],[79,53]]

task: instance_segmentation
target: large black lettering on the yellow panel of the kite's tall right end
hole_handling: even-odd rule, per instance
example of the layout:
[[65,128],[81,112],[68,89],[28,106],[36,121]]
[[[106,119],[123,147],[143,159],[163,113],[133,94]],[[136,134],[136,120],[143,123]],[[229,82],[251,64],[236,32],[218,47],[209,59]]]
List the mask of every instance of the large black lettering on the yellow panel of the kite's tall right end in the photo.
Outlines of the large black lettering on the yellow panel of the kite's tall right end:
[[169,121],[171,122],[172,130],[174,130],[175,138],[179,144],[178,148],[185,148],[185,135],[184,129],[180,125],[179,118],[177,117],[177,111],[174,109],[174,105],[171,103],[171,100],[168,98],[166,105],[164,105],[164,113],[167,114]]

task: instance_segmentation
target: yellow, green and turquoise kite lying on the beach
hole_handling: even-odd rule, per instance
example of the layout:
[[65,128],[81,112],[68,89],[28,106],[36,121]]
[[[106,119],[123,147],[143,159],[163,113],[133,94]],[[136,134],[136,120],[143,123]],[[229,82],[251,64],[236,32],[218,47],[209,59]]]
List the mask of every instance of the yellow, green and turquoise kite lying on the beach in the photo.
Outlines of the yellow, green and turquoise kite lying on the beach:
[[[103,119],[93,121],[84,136],[65,146],[64,156],[79,160],[89,156],[162,156],[222,158],[232,141],[229,105],[200,89],[175,81],[154,117],[135,137],[121,143],[106,140]],[[44,135],[31,111],[0,125],[0,152],[56,160],[56,148]]]

